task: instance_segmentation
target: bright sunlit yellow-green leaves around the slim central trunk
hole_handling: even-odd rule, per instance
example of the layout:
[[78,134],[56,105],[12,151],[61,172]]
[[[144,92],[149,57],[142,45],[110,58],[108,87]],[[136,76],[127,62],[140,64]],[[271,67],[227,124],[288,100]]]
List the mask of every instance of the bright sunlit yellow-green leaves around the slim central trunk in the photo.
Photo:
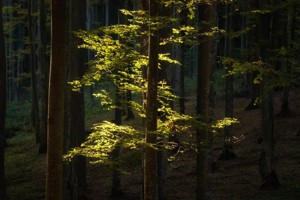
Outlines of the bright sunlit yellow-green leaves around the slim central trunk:
[[[89,62],[90,70],[79,79],[69,82],[73,90],[80,90],[83,85],[94,85],[98,82],[99,85],[109,83],[118,88],[117,91],[107,92],[104,89],[98,90],[94,96],[100,98],[101,104],[106,109],[124,108],[125,104],[136,112],[140,117],[145,117],[145,110],[143,109],[143,102],[129,101],[121,102],[119,107],[114,104],[116,94],[122,96],[124,92],[130,90],[132,94],[141,96],[146,92],[147,80],[142,75],[142,70],[148,65],[148,56],[140,54],[133,45],[134,36],[141,36],[148,33],[146,30],[141,30],[140,24],[147,24],[151,27],[160,28],[168,22],[174,21],[170,17],[155,17],[149,18],[147,12],[144,11],[126,11],[121,10],[125,14],[133,16],[134,24],[129,25],[110,25],[107,27],[100,27],[91,31],[78,31],[75,34],[82,38],[84,43],[80,48],[87,48],[96,52],[95,59]],[[193,30],[192,27],[183,27],[174,30],[187,31]],[[119,39],[115,38],[115,34]],[[177,42],[180,41],[176,40]],[[162,42],[163,43],[163,42]],[[139,48],[142,43],[135,44]],[[159,54],[159,61],[167,61],[169,63],[179,64],[177,61],[170,59],[169,54]],[[129,70],[130,69],[130,70]],[[108,82],[107,82],[108,81]],[[224,118],[223,120],[214,121],[212,123],[202,122],[203,117],[191,117],[181,115],[169,107],[168,101],[177,98],[170,91],[172,88],[167,85],[165,81],[157,83],[157,100],[160,117],[157,119],[157,131],[148,132],[142,129],[137,129],[127,125],[116,125],[109,121],[96,123],[92,127],[92,133],[87,137],[87,141],[82,143],[80,147],[76,147],[69,151],[64,158],[71,159],[76,154],[93,157],[93,163],[113,164],[110,160],[110,152],[116,147],[121,146],[129,149],[141,149],[149,145],[155,149],[163,147],[172,149],[178,144],[174,142],[158,142],[156,144],[145,143],[145,134],[159,134],[161,138],[168,137],[177,132],[190,134],[194,128],[205,129],[214,132],[217,128],[222,128],[230,123],[237,122],[236,119]],[[116,93],[118,92],[118,93]],[[185,141],[184,147],[180,152],[186,149],[195,149],[195,144],[192,141]],[[115,160],[114,160],[115,161]]]

